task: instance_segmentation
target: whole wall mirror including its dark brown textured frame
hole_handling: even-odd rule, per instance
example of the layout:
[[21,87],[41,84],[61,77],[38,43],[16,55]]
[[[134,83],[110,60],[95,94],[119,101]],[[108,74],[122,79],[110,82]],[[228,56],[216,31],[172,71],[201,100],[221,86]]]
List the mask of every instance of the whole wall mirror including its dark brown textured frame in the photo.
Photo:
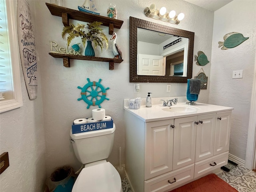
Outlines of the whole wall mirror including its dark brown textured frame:
[[187,82],[194,32],[130,17],[130,82]]

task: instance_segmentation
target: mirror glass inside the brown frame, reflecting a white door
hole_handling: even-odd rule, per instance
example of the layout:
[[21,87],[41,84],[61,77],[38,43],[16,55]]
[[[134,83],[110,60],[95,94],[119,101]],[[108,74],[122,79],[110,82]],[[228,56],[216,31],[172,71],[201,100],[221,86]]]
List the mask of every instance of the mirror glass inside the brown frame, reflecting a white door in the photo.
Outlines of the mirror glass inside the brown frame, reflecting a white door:
[[137,75],[187,76],[188,38],[137,30]]

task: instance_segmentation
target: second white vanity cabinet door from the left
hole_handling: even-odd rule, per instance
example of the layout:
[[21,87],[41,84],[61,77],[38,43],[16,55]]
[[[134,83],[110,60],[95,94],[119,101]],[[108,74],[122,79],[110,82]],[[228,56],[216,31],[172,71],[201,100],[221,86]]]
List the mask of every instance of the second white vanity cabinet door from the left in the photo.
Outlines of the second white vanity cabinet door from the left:
[[173,170],[195,162],[197,116],[174,120]]

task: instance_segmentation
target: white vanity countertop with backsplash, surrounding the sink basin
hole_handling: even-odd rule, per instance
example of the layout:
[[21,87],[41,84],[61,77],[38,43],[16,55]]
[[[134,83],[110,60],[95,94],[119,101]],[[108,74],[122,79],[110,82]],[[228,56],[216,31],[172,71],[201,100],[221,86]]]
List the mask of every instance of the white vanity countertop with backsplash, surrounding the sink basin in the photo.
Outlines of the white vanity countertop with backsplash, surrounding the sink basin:
[[192,108],[196,108],[196,112],[190,112],[190,113],[168,112],[168,111],[162,110],[162,108],[166,108],[166,107],[163,107],[162,104],[156,104],[156,103],[159,103],[160,99],[161,98],[152,98],[152,107],[146,107],[145,105],[143,105],[145,103],[143,99],[142,105],[140,106],[139,109],[129,108],[127,105],[128,99],[125,99],[124,110],[130,112],[131,114],[140,118],[144,122],[150,122],[150,121],[157,121],[157,120],[166,120],[166,119],[182,118],[182,117],[188,117],[188,116],[197,116],[202,114],[225,112],[225,111],[230,111],[234,109],[231,107],[203,104],[203,103],[197,103],[197,102],[196,102],[196,105],[188,105],[186,104],[186,102],[180,102],[174,106],[189,106]]

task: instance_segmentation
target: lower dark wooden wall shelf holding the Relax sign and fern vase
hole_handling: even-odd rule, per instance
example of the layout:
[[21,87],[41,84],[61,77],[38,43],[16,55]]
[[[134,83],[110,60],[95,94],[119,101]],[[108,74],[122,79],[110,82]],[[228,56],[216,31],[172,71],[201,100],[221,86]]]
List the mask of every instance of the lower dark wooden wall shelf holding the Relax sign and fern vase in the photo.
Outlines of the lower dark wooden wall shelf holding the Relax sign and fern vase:
[[55,53],[55,52],[50,52],[49,55],[54,58],[63,58],[63,66],[65,67],[70,67],[70,59],[78,59],[78,60],[88,60],[88,61],[109,62],[109,70],[114,70],[114,63],[121,63],[123,61],[122,59],[70,55],[70,54],[62,54],[62,53]]

